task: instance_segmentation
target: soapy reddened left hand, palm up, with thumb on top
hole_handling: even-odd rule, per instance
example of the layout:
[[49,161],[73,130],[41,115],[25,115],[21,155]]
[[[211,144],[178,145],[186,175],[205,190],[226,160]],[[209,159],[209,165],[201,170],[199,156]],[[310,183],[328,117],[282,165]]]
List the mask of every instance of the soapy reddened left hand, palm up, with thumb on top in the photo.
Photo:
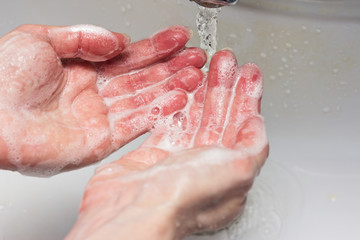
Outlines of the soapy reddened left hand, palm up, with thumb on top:
[[183,108],[206,61],[184,48],[190,35],[173,26],[128,45],[96,26],[25,25],[2,37],[0,168],[52,175],[82,167]]

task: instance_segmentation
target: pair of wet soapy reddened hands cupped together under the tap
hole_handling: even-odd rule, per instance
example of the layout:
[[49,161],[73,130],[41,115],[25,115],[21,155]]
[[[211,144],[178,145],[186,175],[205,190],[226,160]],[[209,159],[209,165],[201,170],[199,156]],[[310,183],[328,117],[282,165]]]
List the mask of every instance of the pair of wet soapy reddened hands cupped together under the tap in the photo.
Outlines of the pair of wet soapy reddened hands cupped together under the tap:
[[268,155],[262,75],[174,26],[129,44],[94,26],[21,26],[0,39],[0,167],[51,175],[103,159],[67,239],[182,239],[244,208]]

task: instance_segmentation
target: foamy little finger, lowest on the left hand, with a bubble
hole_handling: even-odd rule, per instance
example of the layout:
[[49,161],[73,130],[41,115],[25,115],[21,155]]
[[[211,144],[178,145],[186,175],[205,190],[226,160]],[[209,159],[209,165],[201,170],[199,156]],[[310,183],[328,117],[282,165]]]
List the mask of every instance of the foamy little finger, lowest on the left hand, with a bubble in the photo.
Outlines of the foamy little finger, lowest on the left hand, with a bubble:
[[168,116],[185,107],[187,94],[173,90],[149,105],[122,113],[109,113],[114,149],[150,130],[158,117]]

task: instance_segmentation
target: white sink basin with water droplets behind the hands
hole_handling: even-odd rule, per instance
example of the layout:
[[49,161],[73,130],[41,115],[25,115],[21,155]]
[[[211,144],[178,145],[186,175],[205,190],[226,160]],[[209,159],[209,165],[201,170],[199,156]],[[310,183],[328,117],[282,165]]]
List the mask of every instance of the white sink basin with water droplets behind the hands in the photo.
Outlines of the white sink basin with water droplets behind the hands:
[[[269,1],[223,8],[218,39],[219,48],[231,47],[239,63],[255,62],[264,72],[270,157],[244,216],[226,231],[188,239],[360,239],[360,6],[264,2]],[[138,40],[171,24],[195,30],[197,13],[187,0],[1,5],[1,35],[25,23],[89,23]],[[198,41],[194,34],[191,45]],[[143,139],[104,161],[118,159]],[[0,171],[0,240],[63,239],[94,168],[45,179]]]

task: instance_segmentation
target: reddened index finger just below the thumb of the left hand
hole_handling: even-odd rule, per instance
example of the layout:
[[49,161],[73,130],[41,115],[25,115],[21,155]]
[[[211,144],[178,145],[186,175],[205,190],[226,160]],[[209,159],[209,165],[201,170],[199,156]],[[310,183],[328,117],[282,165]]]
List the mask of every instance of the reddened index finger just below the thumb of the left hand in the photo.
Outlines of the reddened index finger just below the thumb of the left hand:
[[191,31],[183,26],[172,26],[148,39],[132,43],[118,57],[98,65],[104,77],[113,77],[149,66],[184,48]]

